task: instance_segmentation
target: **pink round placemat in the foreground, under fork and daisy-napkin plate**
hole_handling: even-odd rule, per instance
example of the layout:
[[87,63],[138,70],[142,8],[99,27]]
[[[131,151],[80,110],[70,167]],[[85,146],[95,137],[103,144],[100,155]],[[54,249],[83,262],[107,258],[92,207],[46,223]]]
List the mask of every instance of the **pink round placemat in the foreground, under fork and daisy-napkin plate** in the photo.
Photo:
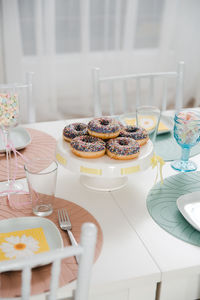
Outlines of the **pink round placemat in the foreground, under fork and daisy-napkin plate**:
[[[29,195],[18,195],[16,196],[16,207],[17,203],[20,202],[20,209],[10,208],[8,206],[7,197],[0,198],[0,220],[15,218],[15,217],[26,217],[33,216],[31,205],[22,205],[22,203],[29,202]],[[100,225],[96,219],[84,208],[69,202],[64,199],[55,198],[54,212],[48,217],[49,220],[59,229],[63,238],[64,246],[70,245],[67,233],[59,228],[58,224],[58,209],[67,208],[72,223],[72,232],[77,240],[80,241],[81,226],[85,222],[92,222],[97,226],[97,244],[95,252],[95,260],[98,258],[102,244],[103,234]],[[14,230],[14,229],[13,229]],[[77,264],[74,257],[64,259],[62,261],[61,273],[60,273],[60,287],[68,284],[77,277]],[[40,294],[49,290],[50,284],[50,272],[51,266],[43,266],[33,269],[32,272],[32,289],[31,294]],[[0,274],[0,297],[17,297],[21,295],[21,272],[7,272]]]

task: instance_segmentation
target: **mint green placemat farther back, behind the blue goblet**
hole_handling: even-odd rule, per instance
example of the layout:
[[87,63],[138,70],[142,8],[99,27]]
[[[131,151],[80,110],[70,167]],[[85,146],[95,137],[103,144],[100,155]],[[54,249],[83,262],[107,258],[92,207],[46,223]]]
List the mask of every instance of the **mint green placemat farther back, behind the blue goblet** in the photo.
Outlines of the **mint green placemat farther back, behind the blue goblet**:
[[[174,139],[173,133],[160,134],[156,137],[155,152],[165,161],[181,158],[181,147]],[[191,148],[190,157],[200,153],[200,143]]]

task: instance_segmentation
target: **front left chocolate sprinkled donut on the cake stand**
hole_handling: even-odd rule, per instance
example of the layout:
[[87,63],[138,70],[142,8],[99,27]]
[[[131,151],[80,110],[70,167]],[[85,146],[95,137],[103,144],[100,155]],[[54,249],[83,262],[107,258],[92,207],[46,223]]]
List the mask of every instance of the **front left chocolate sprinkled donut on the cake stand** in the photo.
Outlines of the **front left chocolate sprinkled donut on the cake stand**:
[[97,158],[105,154],[106,143],[94,136],[83,135],[71,140],[72,152],[84,158]]

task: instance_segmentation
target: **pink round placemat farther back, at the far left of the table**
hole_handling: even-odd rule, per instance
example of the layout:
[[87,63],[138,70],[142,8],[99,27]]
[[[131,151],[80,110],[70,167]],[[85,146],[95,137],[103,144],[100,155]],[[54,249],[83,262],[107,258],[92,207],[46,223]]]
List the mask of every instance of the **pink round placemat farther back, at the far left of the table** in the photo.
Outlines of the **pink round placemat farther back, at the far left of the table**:
[[[56,140],[49,134],[36,130],[36,129],[26,129],[31,136],[31,143],[19,152],[24,158],[17,155],[17,172],[15,179],[20,179],[26,177],[24,171],[24,164],[27,161],[31,161],[34,158],[41,159],[55,159],[56,150]],[[12,153],[11,161],[11,174],[15,172],[16,161],[14,159],[14,154]],[[48,167],[48,165],[41,166],[41,169]],[[40,171],[38,169],[38,171]],[[6,156],[0,156],[0,181],[7,180],[7,162]]]

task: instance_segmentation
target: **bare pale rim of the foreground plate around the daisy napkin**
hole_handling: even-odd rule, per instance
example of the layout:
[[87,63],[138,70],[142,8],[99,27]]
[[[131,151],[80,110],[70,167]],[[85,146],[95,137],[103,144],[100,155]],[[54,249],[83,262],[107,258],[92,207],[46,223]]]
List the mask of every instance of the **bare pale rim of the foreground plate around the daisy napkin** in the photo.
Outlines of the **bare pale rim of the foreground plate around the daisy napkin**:
[[7,233],[19,230],[39,228],[43,229],[50,250],[63,247],[63,240],[56,225],[42,217],[10,218],[0,221],[0,232]]

